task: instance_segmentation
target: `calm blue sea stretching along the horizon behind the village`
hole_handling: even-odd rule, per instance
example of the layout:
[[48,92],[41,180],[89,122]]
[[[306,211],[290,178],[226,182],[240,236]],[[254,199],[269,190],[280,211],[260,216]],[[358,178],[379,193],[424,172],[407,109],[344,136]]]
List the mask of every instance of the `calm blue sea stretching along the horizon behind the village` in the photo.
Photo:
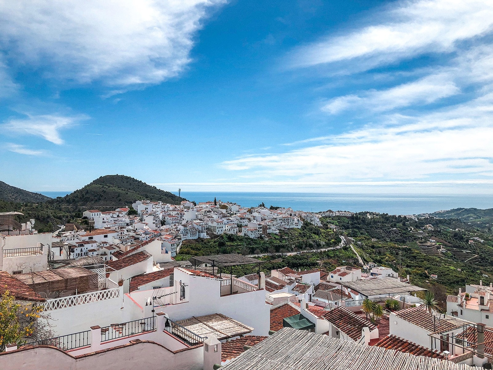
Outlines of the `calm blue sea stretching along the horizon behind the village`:
[[[70,191],[38,191],[56,198]],[[178,195],[177,192],[173,191]],[[255,207],[262,202],[267,206],[291,207],[306,212],[350,211],[379,212],[390,215],[418,215],[454,208],[493,208],[493,195],[443,195],[443,194],[368,194],[368,193],[286,193],[286,192],[225,192],[182,191],[181,196],[199,202],[209,200],[229,201],[244,207]]]

